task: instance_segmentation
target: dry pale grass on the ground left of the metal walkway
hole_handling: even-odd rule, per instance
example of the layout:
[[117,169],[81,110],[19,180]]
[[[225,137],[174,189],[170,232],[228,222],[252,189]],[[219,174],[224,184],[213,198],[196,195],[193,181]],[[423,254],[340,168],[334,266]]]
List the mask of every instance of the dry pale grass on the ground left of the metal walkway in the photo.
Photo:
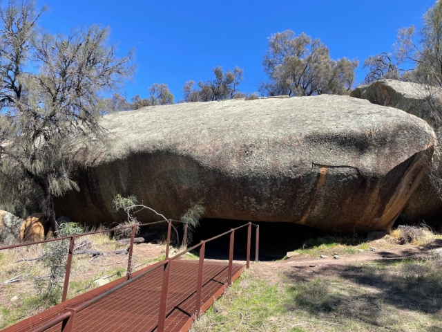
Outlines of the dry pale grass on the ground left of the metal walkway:
[[[89,232],[93,231],[89,230]],[[75,244],[78,246],[82,243],[85,246],[81,246],[79,250],[98,250],[104,254],[96,257],[73,256],[68,298],[90,291],[99,286],[100,282],[111,282],[126,275],[128,255],[115,255],[111,252],[127,248],[127,244],[122,245],[110,239],[108,232],[80,237]],[[44,310],[45,306],[35,291],[34,280],[36,277],[47,275],[48,271],[41,266],[39,260],[17,262],[19,259],[40,257],[43,246],[39,244],[0,251],[0,329]],[[164,243],[135,245],[133,271],[164,259],[165,248]],[[171,248],[171,251],[179,252],[174,248]],[[23,280],[3,284],[6,280],[17,276]],[[11,299],[15,297],[17,299],[12,301]]]

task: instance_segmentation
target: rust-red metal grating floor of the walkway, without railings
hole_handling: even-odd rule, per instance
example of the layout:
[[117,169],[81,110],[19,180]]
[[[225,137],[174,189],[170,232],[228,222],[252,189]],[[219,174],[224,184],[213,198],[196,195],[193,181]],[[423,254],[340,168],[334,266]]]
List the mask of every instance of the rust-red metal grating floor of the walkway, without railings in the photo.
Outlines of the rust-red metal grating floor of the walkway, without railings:
[[[151,268],[151,267],[148,267]],[[143,271],[137,271],[133,277]],[[244,266],[233,264],[233,277],[240,276]],[[228,263],[204,262],[202,279],[202,311],[206,311],[227,286]],[[164,331],[188,331],[195,308],[198,261],[177,260],[171,262],[169,295],[167,297],[166,324]],[[132,284],[100,299],[75,315],[73,331],[155,331],[160,307],[163,269],[140,277]],[[124,279],[113,282],[74,297],[54,308],[4,329],[3,332],[32,331],[49,320],[64,313],[65,308],[75,308],[121,284]],[[47,331],[61,331],[61,323]]]

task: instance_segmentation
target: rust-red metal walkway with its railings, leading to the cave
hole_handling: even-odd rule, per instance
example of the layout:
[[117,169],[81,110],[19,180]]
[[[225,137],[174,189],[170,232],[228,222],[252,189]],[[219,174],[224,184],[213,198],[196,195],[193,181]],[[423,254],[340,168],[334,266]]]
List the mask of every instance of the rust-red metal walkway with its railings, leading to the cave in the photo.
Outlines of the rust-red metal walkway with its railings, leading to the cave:
[[[195,317],[199,317],[206,311],[213,301],[224,293],[227,286],[238,279],[244,268],[249,268],[252,225],[254,224],[247,223],[233,228],[169,257],[172,221],[168,221],[166,259],[135,273],[131,273],[130,267],[136,226],[128,226],[132,228],[132,231],[126,277],[72,299],[66,299],[75,239],[97,232],[73,235],[70,237],[61,304],[2,331],[189,331]],[[259,226],[255,226],[256,260],[258,260]],[[247,262],[246,264],[233,264],[235,232],[244,227],[247,227]],[[184,225],[184,239],[186,239],[186,231],[187,224]],[[230,236],[229,261],[204,259],[206,243],[227,235]],[[2,247],[0,250],[62,239],[68,238],[19,244]],[[183,259],[187,252],[198,248],[198,260]]]

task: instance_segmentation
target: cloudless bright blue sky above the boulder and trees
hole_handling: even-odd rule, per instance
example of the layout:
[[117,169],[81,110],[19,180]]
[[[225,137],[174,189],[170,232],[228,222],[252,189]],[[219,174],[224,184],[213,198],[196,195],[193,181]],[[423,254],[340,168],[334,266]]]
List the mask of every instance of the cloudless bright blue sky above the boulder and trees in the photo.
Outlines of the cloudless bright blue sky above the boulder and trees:
[[357,82],[369,55],[390,51],[398,28],[420,26],[435,0],[115,1],[37,0],[48,12],[41,26],[52,33],[99,24],[111,28],[121,55],[135,47],[137,70],[124,89],[128,99],[166,83],[181,98],[185,81],[208,80],[211,68],[244,68],[240,90],[265,80],[267,37],[283,30],[318,37],[334,59],[358,58]]

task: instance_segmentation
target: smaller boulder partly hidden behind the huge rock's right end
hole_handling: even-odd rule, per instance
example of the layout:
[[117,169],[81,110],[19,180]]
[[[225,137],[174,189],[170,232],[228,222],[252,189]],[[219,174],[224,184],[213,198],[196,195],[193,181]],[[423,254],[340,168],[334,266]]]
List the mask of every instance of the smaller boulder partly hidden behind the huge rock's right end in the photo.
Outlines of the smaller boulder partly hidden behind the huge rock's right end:
[[[352,97],[369,100],[373,104],[395,107],[432,124],[431,107],[425,101],[429,95],[442,95],[440,89],[430,89],[421,84],[396,80],[379,80],[370,85],[359,86],[350,94]],[[437,133],[439,139],[441,133]],[[438,153],[440,154],[440,152]],[[439,157],[440,158],[440,157]],[[430,183],[427,175],[421,185],[410,197],[401,213],[401,219],[407,221],[428,220],[442,213],[442,200]]]

